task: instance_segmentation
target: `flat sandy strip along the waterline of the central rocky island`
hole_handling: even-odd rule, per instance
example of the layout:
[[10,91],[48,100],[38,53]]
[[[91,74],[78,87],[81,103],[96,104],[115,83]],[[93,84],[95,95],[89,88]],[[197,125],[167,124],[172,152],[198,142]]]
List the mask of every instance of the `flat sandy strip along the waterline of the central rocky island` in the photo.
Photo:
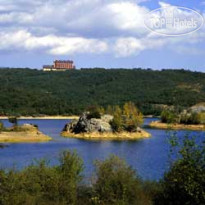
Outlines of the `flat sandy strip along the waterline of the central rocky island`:
[[139,139],[146,139],[150,138],[151,134],[147,131],[141,132],[120,132],[120,133],[113,133],[113,132],[93,132],[93,133],[81,133],[81,134],[74,134],[69,132],[61,132],[62,137],[66,138],[77,138],[83,140],[139,140]]

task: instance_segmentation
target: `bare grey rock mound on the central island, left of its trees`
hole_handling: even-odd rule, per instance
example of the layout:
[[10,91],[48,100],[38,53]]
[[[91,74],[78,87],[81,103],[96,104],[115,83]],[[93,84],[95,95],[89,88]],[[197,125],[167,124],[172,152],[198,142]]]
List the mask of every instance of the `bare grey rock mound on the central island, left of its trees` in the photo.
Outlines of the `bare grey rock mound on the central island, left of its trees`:
[[66,124],[63,131],[69,133],[112,132],[110,121],[111,115],[103,115],[100,119],[89,118],[88,113],[83,113],[79,120],[73,120]]

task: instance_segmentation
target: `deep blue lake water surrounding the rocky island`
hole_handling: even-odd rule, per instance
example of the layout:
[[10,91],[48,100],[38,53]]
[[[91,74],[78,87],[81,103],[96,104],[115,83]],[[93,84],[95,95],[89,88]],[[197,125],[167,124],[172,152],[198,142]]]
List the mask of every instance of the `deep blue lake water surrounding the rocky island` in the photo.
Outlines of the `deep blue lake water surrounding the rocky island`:
[[[156,119],[145,119],[145,125]],[[138,141],[86,141],[63,138],[59,135],[69,120],[19,120],[20,124],[32,123],[39,126],[40,131],[51,136],[53,141],[45,143],[8,144],[0,149],[0,168],[13,166],[22,168],[29,165],[34,159],[46,158],[56,163],[59,153],[63,150],[77,150],[84,160],[85,176],[89,177],[93,171],[93,162],[96,159],[105,159],[110,154],[124,158],[143,179],[160,179],[168,169],[169,144],[167,131],[146,129],[152,134],[149,139]],[[7,120],[3,120],[9,126]],[[179,131],[183,136],[187,131]],[[205,137],[204,132],[190,132],[191,135]]]

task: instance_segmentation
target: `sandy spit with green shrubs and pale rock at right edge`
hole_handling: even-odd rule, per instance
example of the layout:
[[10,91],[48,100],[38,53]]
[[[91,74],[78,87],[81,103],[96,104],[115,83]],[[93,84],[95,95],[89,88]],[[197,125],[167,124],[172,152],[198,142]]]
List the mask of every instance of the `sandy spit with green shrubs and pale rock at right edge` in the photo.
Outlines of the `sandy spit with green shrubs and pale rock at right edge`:
[[165,109],[161,113],[161,121],[153,121],[151,128],[170,130],[205,131],[205,103],[200,103],[182,111]]

